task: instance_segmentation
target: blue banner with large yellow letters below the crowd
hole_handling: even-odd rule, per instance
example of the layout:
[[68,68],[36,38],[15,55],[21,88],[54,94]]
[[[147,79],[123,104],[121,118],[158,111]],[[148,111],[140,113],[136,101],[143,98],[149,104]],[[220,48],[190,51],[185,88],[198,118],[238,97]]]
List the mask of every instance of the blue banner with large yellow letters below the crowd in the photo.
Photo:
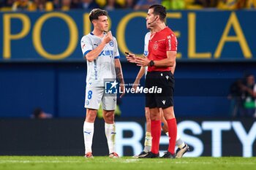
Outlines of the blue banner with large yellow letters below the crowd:
[[[3,28],[0,61],[28,58],[82,61],[79,42],[83,34],[91,31],[88,15],[84,12],[0,13]],[[255,15],[256,12],[249,11],[168,12],[166,22],[182,44],[178,58],[244,60],[255,59],[256,51],[252,49],[256,48],[253,39],[256,23],[241,18],[255,18]],[[123,55],[125,51],[142,52],[147,31],[145,18],[146,12],[110,12],[110,29]]]

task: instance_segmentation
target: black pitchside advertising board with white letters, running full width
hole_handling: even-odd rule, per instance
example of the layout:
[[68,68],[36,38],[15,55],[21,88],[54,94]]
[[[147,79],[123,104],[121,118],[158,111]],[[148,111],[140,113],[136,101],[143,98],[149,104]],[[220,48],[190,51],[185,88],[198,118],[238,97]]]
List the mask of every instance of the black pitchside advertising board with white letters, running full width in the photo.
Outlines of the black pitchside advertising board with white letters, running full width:
[[[186,119],[178,120],[178,134],[191,149],[184,156],[256,156],[256,122],[252,119]],[[15,121],[15,123],[14,123]],[[94,129],[94,155],[106,155],[105,123],[97,119]],[[37,125],[35,125],[35,123]],[[83,125],[78,119],[3,119],[1,121],[0,155],[83,155]],[[49,128],[51,127],[51,128]],[[20,131],[15,131],[19,129]],[[116,119],[116,152],[132,156],[143,150],[145,118]],[[12,131],[12,133],[10,133]],[[44,133],[38,133],[44,131]],[[67,131],[69,131],[68,141]],[[58,134],[58,135],[56,135]],[[17,142],[18,141],[18,142]],[[162,133],[160,152],[168,147],[168,137]],[[47,150],[45,150],[47,148]]]

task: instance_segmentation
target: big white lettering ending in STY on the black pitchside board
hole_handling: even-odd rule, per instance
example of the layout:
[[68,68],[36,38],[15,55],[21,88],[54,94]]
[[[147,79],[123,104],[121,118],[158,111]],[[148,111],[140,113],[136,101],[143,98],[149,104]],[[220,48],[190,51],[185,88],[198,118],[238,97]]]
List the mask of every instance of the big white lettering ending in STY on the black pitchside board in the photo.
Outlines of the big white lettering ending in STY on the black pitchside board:
[[[248,128],[248,127],[247,127]],[[191,147],[187,157],[198,156],[230,156],[243,157],[255,156],[256,123],[248,129],[241,121],[202,121],[184,120],[178,123],[178,133],[184,142]],[[131,132],[132,136],[125,137],[125,132]],[[138,154],[143,150],[141,140],[144,137],[143,126],[136,122],[116,123],[116,149],[120,155],[127,155],[124,150],[129,147],[132,154]],[[166,151],[168,137],[161,136],[160,148]],[[165,147],[161,147],[161,146]]]

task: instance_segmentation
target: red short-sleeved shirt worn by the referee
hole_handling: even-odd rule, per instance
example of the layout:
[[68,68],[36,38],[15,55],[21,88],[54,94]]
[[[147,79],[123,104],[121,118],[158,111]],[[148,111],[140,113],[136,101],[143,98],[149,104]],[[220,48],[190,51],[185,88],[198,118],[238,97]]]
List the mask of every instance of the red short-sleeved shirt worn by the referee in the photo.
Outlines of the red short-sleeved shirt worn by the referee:
[[[148,43],[148,59],[151,61],[159,61],[167,58],[167,51],[177,51],[177,43],[175,34],[168,27],[155,34],[151,34],[151,38]],[[170,66],[148,66],[148,72],[153,71],[170,71]]]

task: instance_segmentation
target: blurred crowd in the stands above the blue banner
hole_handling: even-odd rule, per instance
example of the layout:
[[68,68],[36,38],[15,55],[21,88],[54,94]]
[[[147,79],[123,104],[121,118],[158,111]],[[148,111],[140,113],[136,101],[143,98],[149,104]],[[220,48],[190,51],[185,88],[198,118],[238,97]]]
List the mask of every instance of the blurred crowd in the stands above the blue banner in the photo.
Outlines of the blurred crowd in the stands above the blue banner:
[[256,0],[0,0],[0,11],[52,11],[101,8],[148,9],[162,4],[167,9],[254,9]]

